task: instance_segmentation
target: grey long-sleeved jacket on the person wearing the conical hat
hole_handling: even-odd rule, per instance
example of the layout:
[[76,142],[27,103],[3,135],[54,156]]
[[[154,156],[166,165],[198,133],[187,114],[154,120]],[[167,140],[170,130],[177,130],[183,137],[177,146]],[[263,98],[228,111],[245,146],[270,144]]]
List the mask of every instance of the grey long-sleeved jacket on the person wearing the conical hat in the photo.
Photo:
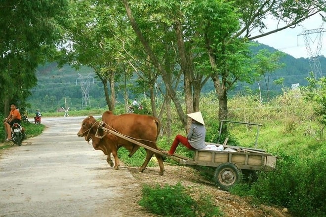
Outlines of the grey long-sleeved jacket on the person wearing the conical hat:
[[206,128],[203,124],[192,123],[187,135],[188,142],[196,149],[205,149]]

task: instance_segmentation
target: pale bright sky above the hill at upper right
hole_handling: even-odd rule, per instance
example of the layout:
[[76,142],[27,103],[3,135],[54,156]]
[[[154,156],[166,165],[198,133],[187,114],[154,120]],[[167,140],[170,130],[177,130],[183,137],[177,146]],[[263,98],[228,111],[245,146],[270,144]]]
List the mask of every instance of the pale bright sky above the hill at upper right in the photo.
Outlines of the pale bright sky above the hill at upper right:
[[[277,22],[272,19],[266,20],[265,24],[267,27],[270,26],[271,30],[274,30],[277,27]],[[257,38],[255,40],[257,40],[259,43],[266,44],[270,47],[274,47],[277,50],[283,51],[293,56],[294,58],[310,58],[311,54],[309,54],[306,49],[306,43],[304,40],[305,36],[298,35],[305,30],[313,30],[319,28],[323,28],[326,31],[326,23],[323,22],[322,18],[317,14],[306,19],[301,23],[301,26],[297,26],[294,29],[287,28],[278,33]],[[256,34],[253,32],[251,35],[254,36]],[[326,57],[326,32],[324,32],[322,35],[318,33],[307,35],[309,45],[311,47],[310,50],[313,54],[316,54],[318,45],[317,42],[320,37],[322,38],[322,47],[319,54]]]

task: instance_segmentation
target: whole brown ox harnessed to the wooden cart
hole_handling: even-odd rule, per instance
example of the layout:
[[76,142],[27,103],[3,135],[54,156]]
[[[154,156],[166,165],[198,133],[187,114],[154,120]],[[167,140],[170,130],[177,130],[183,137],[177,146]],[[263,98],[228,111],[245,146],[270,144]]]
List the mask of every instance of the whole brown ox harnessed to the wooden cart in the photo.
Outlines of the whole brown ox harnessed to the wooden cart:
[[[156,140],[161,127],[158,118],[139,114],[114,115],[112,111],[106,111],[102,115],[102,120],[106,123],[104,127],[119,132],[144,145],[158,149]],[[98,122],[94,117],[86,117],[82,121],[82,128],[78,132],[78,136],[84,137],[87,142],[91,139],[94,149],[102,150],[104,154],[108,155],[107,162],[110,166],[113,164],[110,156],[112,152],[115,158],[115,170],[117,170],[119,169],[119,159],[117,157],[118,149],[121,146],[125,147],[129,151],[129,157],[131,157],[138,150],[139,146],[112,134],[107,134],[103,139],[99,139],[95,137],[97,127]],[[99,130],[99,134],[103,135],[103,131]],[[153,154],[153,151],[146,149],[146,159],[140,167],[140,172],[145,170]],[[162,157],[156,153],[155,156],[160,165],[160,175],[163,175],[164,166]]]

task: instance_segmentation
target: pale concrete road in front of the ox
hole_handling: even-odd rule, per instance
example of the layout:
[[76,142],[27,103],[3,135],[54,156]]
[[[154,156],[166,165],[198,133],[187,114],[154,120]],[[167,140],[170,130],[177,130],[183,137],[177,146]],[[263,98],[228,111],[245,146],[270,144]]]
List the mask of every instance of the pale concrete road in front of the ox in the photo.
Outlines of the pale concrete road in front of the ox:
[[40,136],[1,151],[0,217],[127,216],[118,202],[132,211],[125,193],[139,185],[77,137],[83,118],[42,117]]

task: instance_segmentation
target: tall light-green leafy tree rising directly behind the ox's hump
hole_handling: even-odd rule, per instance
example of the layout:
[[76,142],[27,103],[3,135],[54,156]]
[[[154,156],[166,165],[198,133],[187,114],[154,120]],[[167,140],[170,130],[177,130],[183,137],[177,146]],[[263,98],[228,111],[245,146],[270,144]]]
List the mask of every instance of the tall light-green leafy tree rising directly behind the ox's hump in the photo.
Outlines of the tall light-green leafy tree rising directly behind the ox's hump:
[[66,32],[60,63],[92,68],[103,83],[108,108],[114,110],[115,82],[123,75],[119,54],[119,38],[125,30],[122,13],[114,2],[97,0],[74,0],[72,8],[73,22]]

